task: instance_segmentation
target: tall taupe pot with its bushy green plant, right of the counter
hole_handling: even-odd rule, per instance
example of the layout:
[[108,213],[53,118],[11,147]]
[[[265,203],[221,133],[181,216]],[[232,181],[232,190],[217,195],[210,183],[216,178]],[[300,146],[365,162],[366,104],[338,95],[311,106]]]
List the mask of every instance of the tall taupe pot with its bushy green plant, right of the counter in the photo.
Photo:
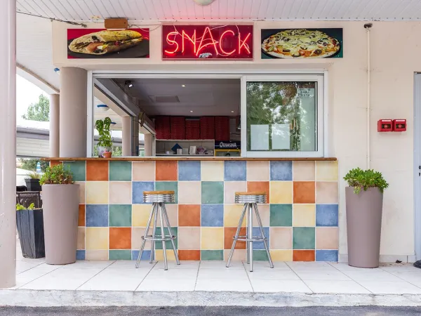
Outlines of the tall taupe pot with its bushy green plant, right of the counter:
[[347,204],[348,264],[377,268],[380,257],[383,191],[389,186],[382,173],[352,169],[344,177]]

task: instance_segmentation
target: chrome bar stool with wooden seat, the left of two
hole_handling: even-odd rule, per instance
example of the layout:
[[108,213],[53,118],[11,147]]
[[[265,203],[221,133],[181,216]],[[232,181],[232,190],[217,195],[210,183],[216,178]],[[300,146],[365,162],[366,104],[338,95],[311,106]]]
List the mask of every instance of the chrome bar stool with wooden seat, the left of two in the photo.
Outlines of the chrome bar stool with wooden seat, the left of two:
[[[142,258],[143,249],[145,249],[145,242],[150,240],[152,242],[151,245],[151,256],[149,257],[149,263],[154,261],[154,252],[155,252],[155,242],[162,242],[162,249],[163,249],[163,267],[164,270],[168,270],[168,261],[166,256],[166,244],[168,240],[171,240],[171,244],[173,244],[173,251],[175,256],[175,261],[177,264],[180,264],[178,260],[177,250],[175,249],[174,239],[176,238],[174,235],[171,234],[171,225],[170,220],[168,220],[168,214],[166,211],[165,204],[174,202],[174,191],[145,191],[143,192],[143,202],[145,203],[152,203],[152,210],[149,215],[149,219],[147,220],[145,234],[142,236],[142,246],[140,246],[138,261],[136,261],[136,268],[139,268],[140,258]],[[156,236],[156,219],[158,218],[161,220],[161,237]],[[149,227],[151,225],[152,218],[154,218],[154,225],[152,228],[152,235],[147,235],[149,232]],[[168,235],[165,235],[164,232],[164,220],[166,223],[166,228],[168,230]]]

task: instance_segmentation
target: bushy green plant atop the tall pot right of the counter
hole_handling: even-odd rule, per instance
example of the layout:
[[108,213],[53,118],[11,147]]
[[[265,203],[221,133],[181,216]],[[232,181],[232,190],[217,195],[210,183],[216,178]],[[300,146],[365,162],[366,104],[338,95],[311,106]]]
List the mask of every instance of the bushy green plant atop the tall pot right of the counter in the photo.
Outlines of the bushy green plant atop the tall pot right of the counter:
[[344,177],[350,187],[354,187],[354,193],[357,195],[368,190],[368,187],[378,187],[380,192],[383,192],[389,183],[383,178],[382,173],[374,171],[373,169],[362,170],[360,168],[350,170]]

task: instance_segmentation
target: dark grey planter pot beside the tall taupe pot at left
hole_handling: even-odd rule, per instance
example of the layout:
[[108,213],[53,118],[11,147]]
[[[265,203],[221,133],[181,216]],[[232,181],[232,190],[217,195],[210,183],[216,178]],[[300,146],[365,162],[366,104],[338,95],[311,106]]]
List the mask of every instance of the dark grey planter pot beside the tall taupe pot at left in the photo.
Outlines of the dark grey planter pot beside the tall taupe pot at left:
[[25,258],[44,258],[44,221],[42,209],[16,211],[20,248]]

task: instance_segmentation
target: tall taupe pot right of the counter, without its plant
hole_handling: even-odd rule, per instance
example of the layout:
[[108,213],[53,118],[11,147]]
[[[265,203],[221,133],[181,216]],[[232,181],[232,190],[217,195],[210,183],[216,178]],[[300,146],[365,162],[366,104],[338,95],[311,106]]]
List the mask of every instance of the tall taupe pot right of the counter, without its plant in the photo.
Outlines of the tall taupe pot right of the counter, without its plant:
[[345,188],[347,199],[348,264],[358,268],[377,268],[380,257],[383,194],[370,187],[354,194]]

